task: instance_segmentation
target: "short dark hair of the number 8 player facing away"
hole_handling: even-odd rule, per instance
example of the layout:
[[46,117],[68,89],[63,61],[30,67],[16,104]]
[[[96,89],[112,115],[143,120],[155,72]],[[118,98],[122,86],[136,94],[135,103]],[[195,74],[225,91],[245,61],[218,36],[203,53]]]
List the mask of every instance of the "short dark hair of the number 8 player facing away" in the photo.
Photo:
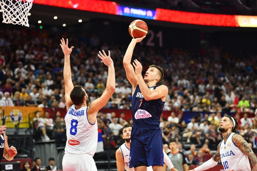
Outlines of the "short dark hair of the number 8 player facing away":
[[74,105],[81,105],[85,96],[86,93],[82,90],[80,85],[74,86],[73,90],[70,92],[70,99]]

